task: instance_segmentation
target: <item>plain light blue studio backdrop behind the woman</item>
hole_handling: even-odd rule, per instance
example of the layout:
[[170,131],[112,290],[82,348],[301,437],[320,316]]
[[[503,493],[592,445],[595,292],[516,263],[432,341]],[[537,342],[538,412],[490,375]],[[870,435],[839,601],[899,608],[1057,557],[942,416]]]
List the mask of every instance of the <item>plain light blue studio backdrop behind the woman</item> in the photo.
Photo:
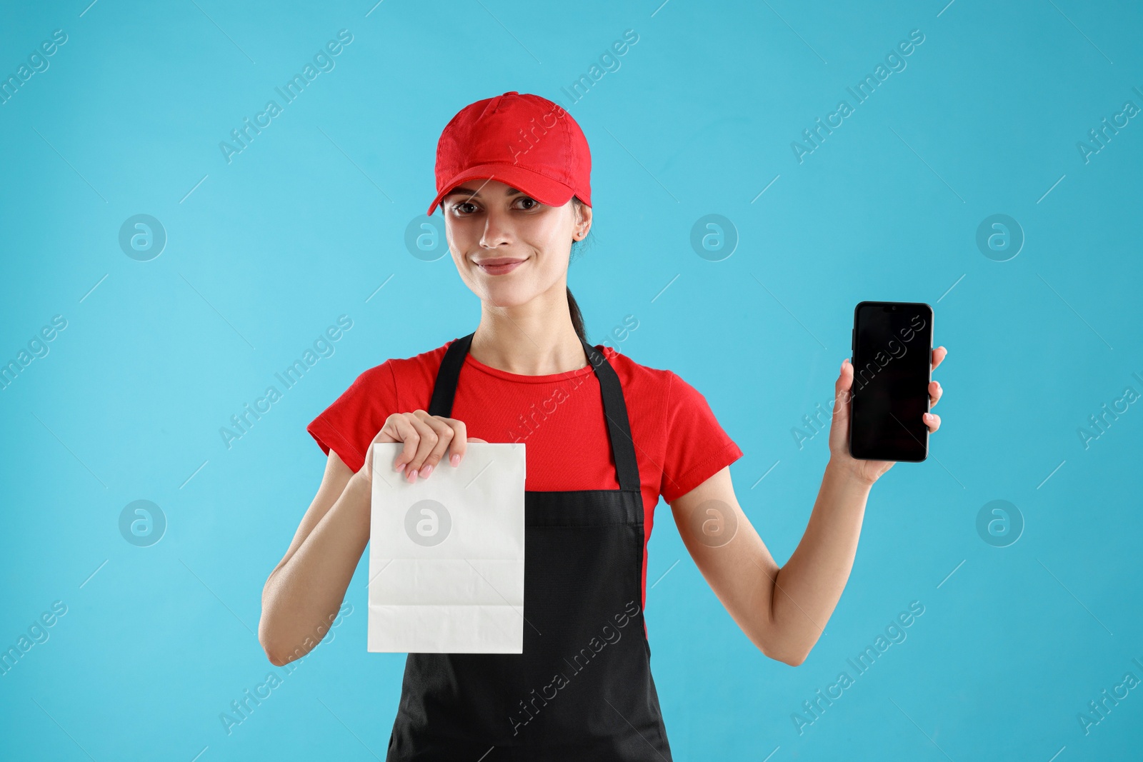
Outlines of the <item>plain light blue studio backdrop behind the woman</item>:
[[[854,305],[927,302],[949,348],[930,458],[874,486],[804,665],[746,640],[660,504],[647,621],[676,759],[1138,757],[1143,688],[1088,735],[1077,719],[1143,679],[1143,409],[1077,434],[1143,393],[1143,117],[1077,149],[1143,106],[1137,3],[87,2],[8,3],[0,27],[5,78],[67,34],[0,105],[0,360],[67,321],[0,392],[0,647],[67,605],[0,676],[0,756],[384,759],[405,657],[366,652],[365,562],[334,639],[232,733],[218,715],[283,673],[254,633],[322,472],[306,423],[366,368],[475,327],[450,259],[405,231],[446,122],[519,90],[592,147],[594,242],[569,275],[592,342],[636,315],[618,348],[706,396],[780,563],[828,460],[824,432],[799,449],[791,430],[832,398]],[[341,29],[336,67],[227,163],[218,143]],[[791,142],[911,30],[906,67],[799,163]],[[136,214],[167,231],[150,262],[119,248]],[[721,262],[689,243],[709,214],[740,236]],[[1026,236],[1008,262],[975,243],[993,214]],[[218,428],[342,314],[336,353],[227,449]],[[119,532],[136,499],[168,521],[151,547]],[[976,531],[993,499],[1024,516],[1008,547]],[[911,601],[908,639],[799,735],[791,714]]]

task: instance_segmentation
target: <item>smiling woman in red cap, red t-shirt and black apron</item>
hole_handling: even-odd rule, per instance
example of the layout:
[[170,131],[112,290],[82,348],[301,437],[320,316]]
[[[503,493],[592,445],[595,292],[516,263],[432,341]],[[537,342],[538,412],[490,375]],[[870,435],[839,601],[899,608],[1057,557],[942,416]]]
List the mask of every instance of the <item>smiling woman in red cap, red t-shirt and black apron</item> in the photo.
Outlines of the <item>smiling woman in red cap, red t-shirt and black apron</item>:
[[[780,569],[735,498],[742,451],[703,396],[588,344],[567,267],[591,230],[590,173],[583,133],[550,101],[513,91],[457,113],[429,214],[441,204],[480,323],[365,371],[309,426],[328,460],[263,593],[259,639],[277,665],[320,641],[313,625],[336,615],[369,539],[370,443],[401,442],[391,467],[409,481],[455,467],[467,442],[527,443],[523,653],[409,653],[387,760],[670,760],[642,617],[660,496],[743,633],[798,665],[845,587],[870,487],[893,465],[849,457],[848,406],[836,404],[817,503]],[[943,358],[934,351],[934,367]],[[846,361],[839,400],[852,384]],[[929,394],[935,404],[940,384]]]

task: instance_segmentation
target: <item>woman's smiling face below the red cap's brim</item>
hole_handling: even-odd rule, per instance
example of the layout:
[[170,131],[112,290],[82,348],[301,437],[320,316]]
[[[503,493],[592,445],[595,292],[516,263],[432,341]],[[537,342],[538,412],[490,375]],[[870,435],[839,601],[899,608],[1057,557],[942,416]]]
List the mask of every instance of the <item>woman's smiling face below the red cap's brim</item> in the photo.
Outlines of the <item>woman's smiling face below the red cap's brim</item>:
[[445,234],[461,279],[498,307],[525,304],[567,282],[572,241],[591,208],[549,207],[496,179],[462,183],[441,200]]

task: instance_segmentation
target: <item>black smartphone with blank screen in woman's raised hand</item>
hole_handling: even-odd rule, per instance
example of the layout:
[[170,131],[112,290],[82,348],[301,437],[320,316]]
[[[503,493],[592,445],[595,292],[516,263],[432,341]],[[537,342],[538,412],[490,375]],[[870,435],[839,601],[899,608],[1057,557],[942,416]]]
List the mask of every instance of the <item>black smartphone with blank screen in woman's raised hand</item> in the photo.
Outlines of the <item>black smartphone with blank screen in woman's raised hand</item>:
[[861,460],[928,457],[933,307],[862,302],[854,308],[849,454]]

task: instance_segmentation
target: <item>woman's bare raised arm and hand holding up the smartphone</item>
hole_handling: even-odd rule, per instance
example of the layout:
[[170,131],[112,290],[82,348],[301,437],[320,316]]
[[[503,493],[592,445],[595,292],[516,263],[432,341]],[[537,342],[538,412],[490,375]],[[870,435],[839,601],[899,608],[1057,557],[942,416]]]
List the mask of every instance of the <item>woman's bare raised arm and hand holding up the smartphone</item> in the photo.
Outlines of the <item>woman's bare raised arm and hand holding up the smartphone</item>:
[[[936,368],[946,351],[933,351]],[[766,656],[798,666],[806,660],[833,613],[857,553],[865,503],[873,483],[892,466],[884,460],[855,460],[849,455],[849,390],[853,366],[842,363],[830,423],[830,462],[809,523],[784,567],[778,567],[730,483],[729,466],[671,503],[674,522],[695,564],[719,601]],[[941,399],[929,384],[930,407]],[[941,419],[926,419],[929,431]],[[720,537],[704,524],[736,527]]]

